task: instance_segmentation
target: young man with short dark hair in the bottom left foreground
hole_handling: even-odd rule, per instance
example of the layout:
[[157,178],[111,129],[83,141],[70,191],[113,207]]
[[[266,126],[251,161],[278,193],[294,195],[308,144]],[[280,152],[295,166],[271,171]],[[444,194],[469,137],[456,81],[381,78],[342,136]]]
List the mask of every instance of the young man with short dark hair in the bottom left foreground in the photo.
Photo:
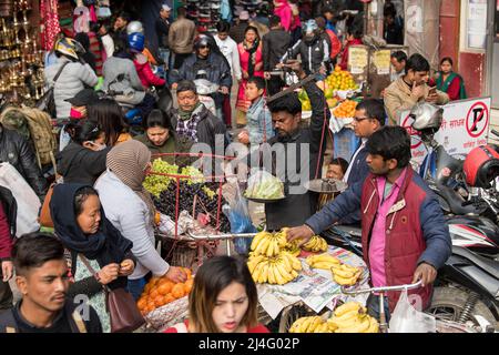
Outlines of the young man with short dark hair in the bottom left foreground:
[[44,233],[23,235],[12,257],[22,300],[0,314],[0,333],[102,333],[90,304],[67,298],[68,264],[58,239]]

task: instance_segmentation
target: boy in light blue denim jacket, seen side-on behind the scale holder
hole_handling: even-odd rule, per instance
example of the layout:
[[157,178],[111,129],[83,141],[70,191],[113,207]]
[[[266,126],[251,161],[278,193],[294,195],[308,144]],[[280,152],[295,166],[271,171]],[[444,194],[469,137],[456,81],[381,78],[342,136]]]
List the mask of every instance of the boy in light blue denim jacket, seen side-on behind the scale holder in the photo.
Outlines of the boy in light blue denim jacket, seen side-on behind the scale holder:
[[272,129],[272,116],[263,98],[265,80],[253,77],[247,81],[246,99],[252,102],[246,113],[247,125],[237,139],[243,144],[261,144],[274,136]]

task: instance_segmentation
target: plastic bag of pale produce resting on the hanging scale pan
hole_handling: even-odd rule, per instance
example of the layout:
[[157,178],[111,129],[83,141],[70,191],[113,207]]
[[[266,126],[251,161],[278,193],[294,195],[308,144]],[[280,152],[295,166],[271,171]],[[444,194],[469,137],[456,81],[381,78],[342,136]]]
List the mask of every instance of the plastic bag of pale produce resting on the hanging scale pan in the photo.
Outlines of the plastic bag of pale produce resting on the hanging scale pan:
[[283,199],[284,184],[279,179],[275,178],[269,172],[258,170],[247,180],[245,197],[262,200]]

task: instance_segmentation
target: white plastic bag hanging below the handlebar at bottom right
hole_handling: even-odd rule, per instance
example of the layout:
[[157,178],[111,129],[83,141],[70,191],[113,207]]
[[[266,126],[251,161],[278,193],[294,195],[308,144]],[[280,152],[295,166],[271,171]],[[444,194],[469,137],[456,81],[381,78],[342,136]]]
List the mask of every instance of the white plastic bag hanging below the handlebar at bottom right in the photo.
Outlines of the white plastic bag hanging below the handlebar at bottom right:
[[407,290],[400,293],[400,298],[391,314],[390,333],[436,333],[437,322],[434,316],[417,311],[409,302]]

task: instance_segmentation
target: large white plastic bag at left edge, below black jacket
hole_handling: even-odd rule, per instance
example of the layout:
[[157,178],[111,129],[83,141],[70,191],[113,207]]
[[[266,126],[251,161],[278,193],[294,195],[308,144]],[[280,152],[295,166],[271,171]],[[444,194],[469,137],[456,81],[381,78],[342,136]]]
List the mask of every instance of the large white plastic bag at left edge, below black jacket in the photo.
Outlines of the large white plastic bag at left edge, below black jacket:
[[18,203],[17,236],[40,230],[40,199],[10,163],[0,164],[0,185],[9,189]]

